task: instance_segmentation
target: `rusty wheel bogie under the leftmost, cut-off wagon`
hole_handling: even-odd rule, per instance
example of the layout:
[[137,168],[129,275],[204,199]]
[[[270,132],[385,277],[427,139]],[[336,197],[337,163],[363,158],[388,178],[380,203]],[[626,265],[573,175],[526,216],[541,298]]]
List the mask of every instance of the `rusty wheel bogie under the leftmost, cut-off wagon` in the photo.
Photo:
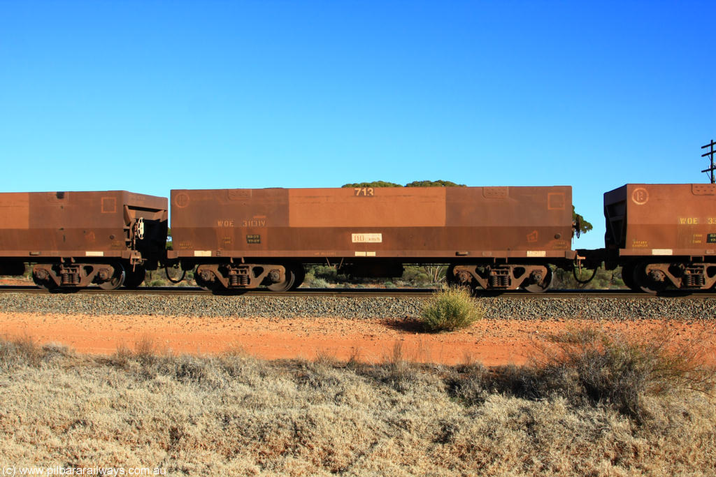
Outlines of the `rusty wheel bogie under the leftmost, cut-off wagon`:
[[105,290],[115,290],[125,282],[125,267],[120,262],[77,263],[68,260],[38,263],[32,267],[32,280],[39,287],[48,289],[96,284]]

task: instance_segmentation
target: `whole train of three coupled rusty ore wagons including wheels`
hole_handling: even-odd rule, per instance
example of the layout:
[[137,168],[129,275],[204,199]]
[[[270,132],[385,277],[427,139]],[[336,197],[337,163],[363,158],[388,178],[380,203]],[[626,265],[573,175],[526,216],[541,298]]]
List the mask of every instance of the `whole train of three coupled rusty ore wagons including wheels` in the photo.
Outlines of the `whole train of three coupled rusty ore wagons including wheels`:
[[136,287],[179,264],[209,290],[291,290],[304,264],[546,290],[553,267],[622,268],[634,290],[716,287],[716,185],[627,184],[604,195],[605,247],[571,250],[571,187],[357,187],[0,194],[0,275],[43,287]]

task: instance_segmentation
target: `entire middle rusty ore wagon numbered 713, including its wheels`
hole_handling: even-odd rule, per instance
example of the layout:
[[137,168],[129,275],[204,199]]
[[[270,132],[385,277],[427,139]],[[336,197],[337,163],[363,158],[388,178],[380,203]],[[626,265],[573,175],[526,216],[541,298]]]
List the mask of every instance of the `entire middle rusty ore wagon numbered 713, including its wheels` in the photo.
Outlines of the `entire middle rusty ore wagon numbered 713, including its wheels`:
[[305,263],[395,277],[447,263],[448,281],[532,292],[571,269],[571,187],[173,190],[173,251],[198,285],[291,290]]

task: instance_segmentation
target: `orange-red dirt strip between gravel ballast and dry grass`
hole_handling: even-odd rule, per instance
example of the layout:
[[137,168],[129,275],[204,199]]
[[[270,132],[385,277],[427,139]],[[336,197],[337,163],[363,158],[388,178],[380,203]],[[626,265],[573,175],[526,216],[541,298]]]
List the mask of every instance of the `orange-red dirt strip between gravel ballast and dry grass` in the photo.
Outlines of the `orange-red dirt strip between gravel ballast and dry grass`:
[[241,348],[259,358],[328,356],[377,363],[400,345],[404,358],[419,362],[485,365],[522,364],[549,333],[596,327],[644,336],[656,334],[674,347],[700,343],[716,362],[711,321],[482,320],[453,333],[418,333],[415,325],[382,319],[345,318],[178,318],[166,316],[87,316],[0,313],[0,335],[29,336],[59,343],[79,353],[115,353],[125,346],[152,343],[159,352],[211,354]]

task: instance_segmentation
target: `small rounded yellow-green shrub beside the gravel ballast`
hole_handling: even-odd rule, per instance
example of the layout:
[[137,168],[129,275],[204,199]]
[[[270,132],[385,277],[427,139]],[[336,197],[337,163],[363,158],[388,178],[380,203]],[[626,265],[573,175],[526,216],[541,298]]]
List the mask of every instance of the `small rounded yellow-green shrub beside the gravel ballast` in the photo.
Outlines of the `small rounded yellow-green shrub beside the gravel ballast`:
[[465,287],[446,287],[427,300],[420,321],[426,331],[452,331],[467,328],[481,320],[485,310],[475,304]]

